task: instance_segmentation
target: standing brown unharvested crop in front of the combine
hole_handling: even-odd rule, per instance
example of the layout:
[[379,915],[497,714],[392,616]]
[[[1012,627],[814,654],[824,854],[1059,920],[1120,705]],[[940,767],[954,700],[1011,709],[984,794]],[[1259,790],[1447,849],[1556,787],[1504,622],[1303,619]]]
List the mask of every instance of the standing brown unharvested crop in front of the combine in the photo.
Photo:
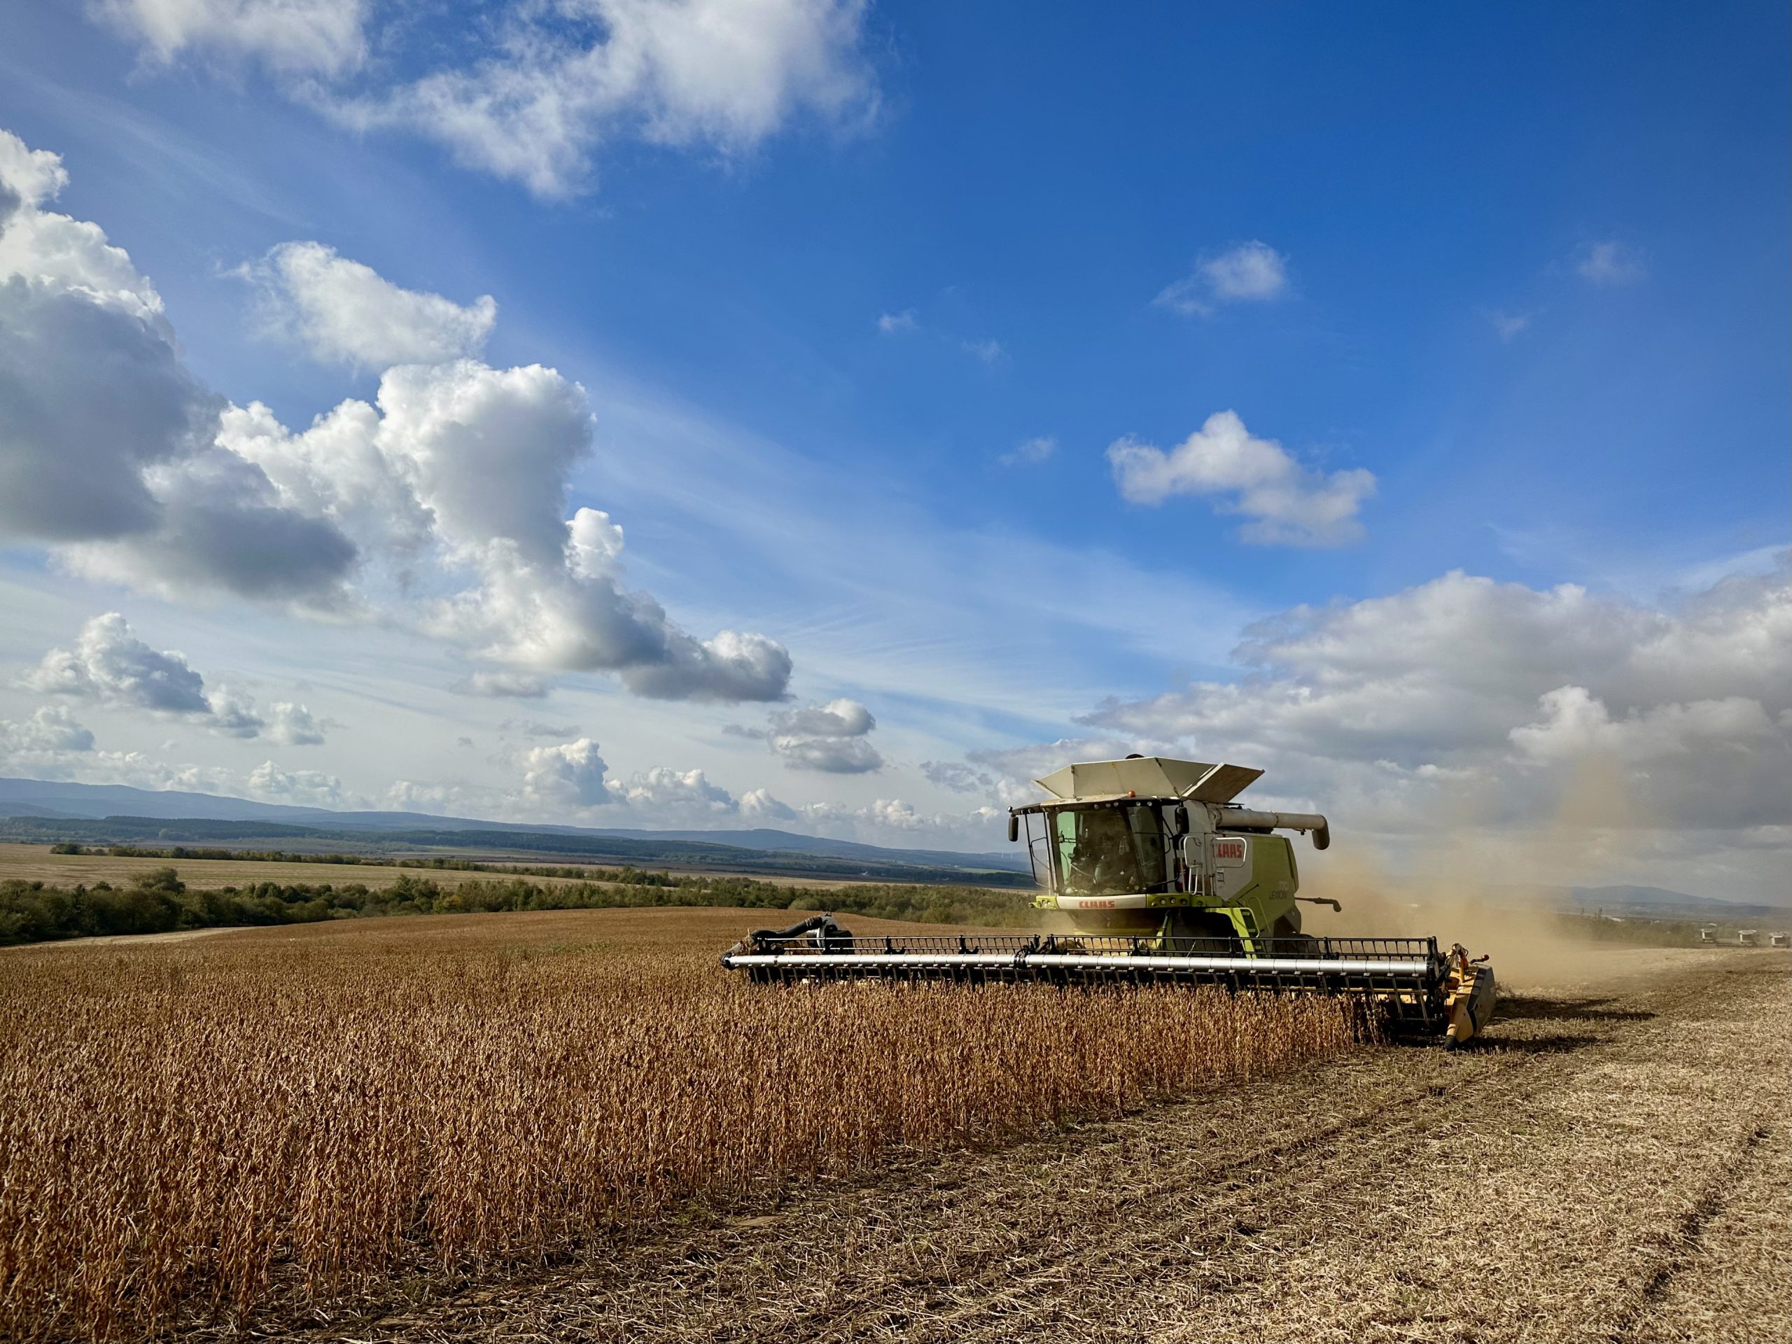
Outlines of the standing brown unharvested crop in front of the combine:
[[602,944],[344,937],[11,953],[0,1012],[5,1337],[539,1262],[690,1197],[1113,1115],[1362,1027],[1324,1000],[778,991]]

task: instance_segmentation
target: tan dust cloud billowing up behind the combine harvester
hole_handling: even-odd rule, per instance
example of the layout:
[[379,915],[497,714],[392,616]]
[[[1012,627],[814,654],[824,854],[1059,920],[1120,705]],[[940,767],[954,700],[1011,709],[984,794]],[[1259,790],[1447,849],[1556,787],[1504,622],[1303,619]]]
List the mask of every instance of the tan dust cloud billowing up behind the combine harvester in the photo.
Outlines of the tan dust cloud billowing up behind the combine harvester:
[[1559,892],[1609,878],[1622,864],[1624,837],[1647,823],[1620,763],[1604,754],[1573,762],[1548,821],[1500,824],[1509,803],[1457,792],[1398,869],[1373,840],[1348,833],[1326,855],[1303,855],[1303,894],[1344,907],[1339,914],[1303,907],[1303,928],[1460,943],[1471,955],[1491,953],[1502,986],[1514,989],[1579,978],[1590,948],[1563,928]]

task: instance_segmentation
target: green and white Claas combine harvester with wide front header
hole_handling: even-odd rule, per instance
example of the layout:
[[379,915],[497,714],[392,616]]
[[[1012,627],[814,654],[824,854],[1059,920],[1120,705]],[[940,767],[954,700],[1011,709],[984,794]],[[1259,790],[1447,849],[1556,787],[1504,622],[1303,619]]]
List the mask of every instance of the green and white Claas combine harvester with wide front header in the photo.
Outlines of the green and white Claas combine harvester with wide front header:
[[[1493,1016],[1486,957],[1435,937],[1312,937],[1301,932],[1294,844],[1331,844],[1326,819],[1253,812],[1233,799],[1263,772],[1163,756],[1066,765],[1036,780],[1048,799],[1009,808],[1041,894],[1068,934],[853,937],[833,916],[762,928],[722,966],[762,984],[957,980],[971,984],[1217,984],[1374,1000],[1394,1030],[1450,1047]],[[1036,826],[1038,821],[1038,826]],[[1038,835],[1034,831],[1039,831]]]

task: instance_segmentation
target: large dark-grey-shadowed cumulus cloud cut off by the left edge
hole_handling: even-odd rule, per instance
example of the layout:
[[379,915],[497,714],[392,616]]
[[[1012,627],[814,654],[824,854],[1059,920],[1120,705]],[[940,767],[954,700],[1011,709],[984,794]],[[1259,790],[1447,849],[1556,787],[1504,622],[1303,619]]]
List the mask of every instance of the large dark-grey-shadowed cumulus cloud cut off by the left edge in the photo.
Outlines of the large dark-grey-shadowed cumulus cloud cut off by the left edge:
[[45,208],[61,163],[0,131],[0,541],[149,588],[333,602],[355,545],[215,446],[161,297],[93,224]]

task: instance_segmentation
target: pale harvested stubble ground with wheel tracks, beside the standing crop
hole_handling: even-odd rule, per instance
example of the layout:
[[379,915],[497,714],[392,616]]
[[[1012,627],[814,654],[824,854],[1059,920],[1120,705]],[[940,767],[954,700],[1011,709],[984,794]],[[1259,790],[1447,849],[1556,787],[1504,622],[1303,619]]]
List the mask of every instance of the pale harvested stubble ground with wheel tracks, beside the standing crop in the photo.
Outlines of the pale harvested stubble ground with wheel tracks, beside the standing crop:
[[1487,1048],[898,1165],[349,1333],[1792,1339],[1787,959],[1588,961],[1509,1000]]

